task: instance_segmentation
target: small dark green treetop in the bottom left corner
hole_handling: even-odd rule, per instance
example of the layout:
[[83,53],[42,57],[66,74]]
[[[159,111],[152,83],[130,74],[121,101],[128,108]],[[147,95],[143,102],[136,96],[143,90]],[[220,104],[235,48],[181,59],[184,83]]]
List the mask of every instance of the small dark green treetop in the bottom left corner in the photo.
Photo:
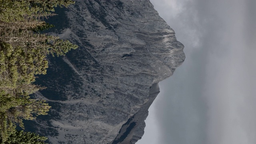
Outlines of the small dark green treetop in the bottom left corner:
[[1,144],[45,144],[44,141],[47,140],[44,136],[39,136],[38,134],[31,132],[24,132],[23,130],[15,130],[8,136],[5,141],[0,138]]

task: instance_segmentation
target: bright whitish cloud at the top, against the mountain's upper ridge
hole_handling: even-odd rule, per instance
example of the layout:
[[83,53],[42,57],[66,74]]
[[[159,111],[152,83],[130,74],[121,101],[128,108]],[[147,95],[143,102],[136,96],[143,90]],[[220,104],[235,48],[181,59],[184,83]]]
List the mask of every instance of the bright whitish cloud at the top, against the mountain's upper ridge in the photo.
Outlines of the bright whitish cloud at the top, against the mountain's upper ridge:
[[200,45],[202,28],[198,21],[197,10],[193,8],[191,0],[151,0],[151,2],[171,28],[175,31],[179,29],[186,31],[178,32],[178,35],[181,35],[177,36],[178,40],[192,44],[193,48]]

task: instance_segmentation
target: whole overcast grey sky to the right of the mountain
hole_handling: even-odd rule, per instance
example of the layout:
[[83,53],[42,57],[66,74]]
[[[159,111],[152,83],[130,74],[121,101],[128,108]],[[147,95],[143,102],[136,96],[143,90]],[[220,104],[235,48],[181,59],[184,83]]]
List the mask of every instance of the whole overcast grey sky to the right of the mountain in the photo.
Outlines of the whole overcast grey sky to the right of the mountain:
[[186,59],[136,144],[256,144],[256,0],[150,0]]

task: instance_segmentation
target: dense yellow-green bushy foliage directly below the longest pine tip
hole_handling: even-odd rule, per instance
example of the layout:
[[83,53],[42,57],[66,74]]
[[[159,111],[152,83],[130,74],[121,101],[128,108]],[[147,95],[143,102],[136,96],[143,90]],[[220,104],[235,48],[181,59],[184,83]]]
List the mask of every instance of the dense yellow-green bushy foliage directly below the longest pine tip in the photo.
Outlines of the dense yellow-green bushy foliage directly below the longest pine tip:
[[0,43],[0,88],[14,88],[21,82],[31,83],[35,74],[46,74],[48,62],[40,47],[28,48]]

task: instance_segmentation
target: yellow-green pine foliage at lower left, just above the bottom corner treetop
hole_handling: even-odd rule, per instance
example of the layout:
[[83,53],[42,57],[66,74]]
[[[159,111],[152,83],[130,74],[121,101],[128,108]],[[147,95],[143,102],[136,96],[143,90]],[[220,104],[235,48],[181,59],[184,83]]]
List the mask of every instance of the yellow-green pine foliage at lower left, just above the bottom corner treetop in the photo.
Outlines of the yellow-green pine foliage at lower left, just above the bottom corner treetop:
[[45,100],[31,99],[29,96],[38,89],[38,86],[26,84],[13,90],[6,88],[6,90],[0,91],[0,134],[2,141],[5,141],[15,131],[16,123],[24,128],[23,119],[34,120],[38,115],[47,114],[50,106],[45,103]]

